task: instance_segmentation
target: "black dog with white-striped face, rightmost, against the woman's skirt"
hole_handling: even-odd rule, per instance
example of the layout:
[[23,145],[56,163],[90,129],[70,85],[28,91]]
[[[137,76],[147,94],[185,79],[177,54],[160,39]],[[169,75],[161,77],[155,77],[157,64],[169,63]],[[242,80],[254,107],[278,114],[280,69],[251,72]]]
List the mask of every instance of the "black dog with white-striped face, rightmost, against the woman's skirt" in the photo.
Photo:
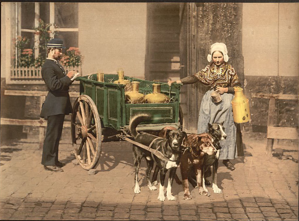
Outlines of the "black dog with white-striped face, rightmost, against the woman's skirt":
[[[216,155],[205,155],[204,157],[204,176],[203,176],[203,189],[207,191],[207,188],[205,185],[210,185],[210,181],[207,180],[207,177],[212,175],[212,188],[214,193],[221,193],[221,189],[218,188],[217,186],[217,170],[218,170],[218,159],[219,159],[219,154],[220,154],[220,143],[219,141],[224,140],[227,138],[227,135],[225,134],[224,126],[223,126],[224,121],[220,123],[208,123],[208,134],[211,135],[213,138],[213,145],[217,149]],[[213,167],[211,171],[211,166]],[[188,180],[192,184],[194,188],[198,188],[197,182],[196,182],[196,176],[195,173],[189,173],[188,174]]]

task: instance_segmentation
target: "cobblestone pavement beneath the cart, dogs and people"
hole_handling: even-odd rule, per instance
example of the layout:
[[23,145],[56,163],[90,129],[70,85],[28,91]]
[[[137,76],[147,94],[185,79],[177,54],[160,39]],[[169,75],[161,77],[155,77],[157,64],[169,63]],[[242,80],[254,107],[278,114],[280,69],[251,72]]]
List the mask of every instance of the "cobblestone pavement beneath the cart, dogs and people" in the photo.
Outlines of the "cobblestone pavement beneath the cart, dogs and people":
[[[243,138],[245,156],[232,161],[236,170],[219,163],[217,182],[222,193],[213,193],[209,186],[211,196],[201,196],[191,187],[193,199],[183,200],[182,186],[174,182],[176,201],[166,198],[165,202],[157,200],[158,191],[146,186],[144,160],[141,193],[133,193],[129,142],[103,143],[100,172],[95,175],[72,164],[68,141],[61,141],[59,147],[59,159],[67,163],[63,173],[43,169],[37,143],[2,145],[0,219],[298,220],[298,164],[264,155],[266,139],[246,138],[246,134]],[[291,148],[288,154],[298,159],[297,144],[282,148]],[[177,174],[180,177],[179,169]]]

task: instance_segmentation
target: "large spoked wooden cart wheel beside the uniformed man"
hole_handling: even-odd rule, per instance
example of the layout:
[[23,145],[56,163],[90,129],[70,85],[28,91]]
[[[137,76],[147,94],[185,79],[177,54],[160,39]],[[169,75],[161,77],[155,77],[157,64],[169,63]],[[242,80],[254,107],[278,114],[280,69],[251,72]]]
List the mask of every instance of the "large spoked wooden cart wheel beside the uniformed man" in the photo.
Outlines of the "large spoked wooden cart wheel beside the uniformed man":
[[88,95],[78,97],[71,121],[74,154],[83,169],[97,165],[101,153],[102,128],[95,103]]

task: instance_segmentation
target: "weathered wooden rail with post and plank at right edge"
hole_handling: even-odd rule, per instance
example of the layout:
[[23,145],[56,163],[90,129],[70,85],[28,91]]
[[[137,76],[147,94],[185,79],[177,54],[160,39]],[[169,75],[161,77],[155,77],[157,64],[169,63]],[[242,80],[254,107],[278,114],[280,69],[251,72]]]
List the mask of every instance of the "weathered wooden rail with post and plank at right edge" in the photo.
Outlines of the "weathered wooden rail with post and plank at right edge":
[[291,139],[298,140],[298,127],[278,127],[274,126],[274,116],[276,114],[275,101],[276,99],[283,100],[298,100],[298,95],[287,94],[263,94],[252,93],[252,98],[264,98],[269,100],[268,122],[267,122],[267,147],[266,154],[271,154],[273,149],[274,139]]

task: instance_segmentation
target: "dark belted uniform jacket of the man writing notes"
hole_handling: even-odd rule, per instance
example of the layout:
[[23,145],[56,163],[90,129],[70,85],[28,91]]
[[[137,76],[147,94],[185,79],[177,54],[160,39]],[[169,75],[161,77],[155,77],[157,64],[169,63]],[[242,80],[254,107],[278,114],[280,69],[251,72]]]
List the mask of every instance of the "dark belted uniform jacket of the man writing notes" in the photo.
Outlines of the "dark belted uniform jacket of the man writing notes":
[[49,92],[43,103],[40,117],[47,119],[52,115],[72,113],[68,94],[72,80],[66,76],[61,64],[55,60],[46,59],[42,67],[42,77]]

